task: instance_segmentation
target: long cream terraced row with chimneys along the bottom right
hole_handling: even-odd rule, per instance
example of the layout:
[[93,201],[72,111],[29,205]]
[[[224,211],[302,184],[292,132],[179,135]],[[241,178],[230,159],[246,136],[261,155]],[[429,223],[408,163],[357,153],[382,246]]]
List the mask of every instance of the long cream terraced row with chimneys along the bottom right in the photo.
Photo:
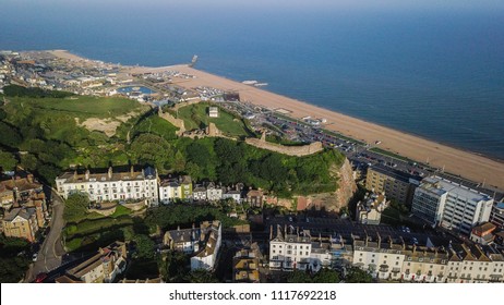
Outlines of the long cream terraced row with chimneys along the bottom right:
[[434,245],[429,237],[421,244],[411,244],[403,237],[379,234],[351,235],[349,242],[340,237],[328,241],[280,232],[269,242],[269,268],[317,271],[321,267],[355,266],[385,282],[504,282],[504,255],[494,246]]

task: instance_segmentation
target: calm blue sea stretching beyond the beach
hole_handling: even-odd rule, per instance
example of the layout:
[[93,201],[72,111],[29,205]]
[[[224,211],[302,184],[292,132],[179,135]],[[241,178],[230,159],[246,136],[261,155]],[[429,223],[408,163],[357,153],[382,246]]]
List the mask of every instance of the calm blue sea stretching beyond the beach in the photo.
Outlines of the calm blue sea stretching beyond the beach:
[[197,69],[504,159],[499,1],[5,1],[0,49],[153,66],[197,54]]

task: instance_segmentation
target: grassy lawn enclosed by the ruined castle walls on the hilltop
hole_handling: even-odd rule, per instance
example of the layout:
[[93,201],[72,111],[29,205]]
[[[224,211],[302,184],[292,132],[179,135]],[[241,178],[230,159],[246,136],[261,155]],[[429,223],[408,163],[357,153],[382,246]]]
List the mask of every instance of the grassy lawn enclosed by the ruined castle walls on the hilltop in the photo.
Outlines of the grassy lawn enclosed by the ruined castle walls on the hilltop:
[[214,123],[223,133],[231,136],[247,136],[247,127],[239,118],[219,108],[219,118],[208,117],[207,102],[200,102],[182,107],[178,111],[178,118],[183,120],[187,130],[206,127],[209,122]]

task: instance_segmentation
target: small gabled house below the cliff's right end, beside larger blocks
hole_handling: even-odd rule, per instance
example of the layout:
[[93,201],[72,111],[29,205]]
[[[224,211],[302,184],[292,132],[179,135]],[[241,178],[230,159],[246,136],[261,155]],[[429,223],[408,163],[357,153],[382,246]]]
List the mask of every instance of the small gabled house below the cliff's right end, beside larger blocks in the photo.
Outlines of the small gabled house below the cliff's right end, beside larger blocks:
[[382,212],[388,206],[385,194],[365,194],[364,198],[357,203],[356,219],[362,224],[380,224]]

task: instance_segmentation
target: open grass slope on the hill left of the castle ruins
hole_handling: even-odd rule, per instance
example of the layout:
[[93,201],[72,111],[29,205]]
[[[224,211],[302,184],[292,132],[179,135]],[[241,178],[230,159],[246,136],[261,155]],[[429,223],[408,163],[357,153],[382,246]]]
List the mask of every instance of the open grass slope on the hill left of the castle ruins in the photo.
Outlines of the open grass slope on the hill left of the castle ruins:
[[135,110],[145,110],[146,106],[135,100],[115,97],[74,96],[68,98],[43,98],[34,99],[26,97],[11,97],[8,107],[29,106],[35,109],[51,111],[51,113],[71,114],[72,117],[86,118],[116,118]]

